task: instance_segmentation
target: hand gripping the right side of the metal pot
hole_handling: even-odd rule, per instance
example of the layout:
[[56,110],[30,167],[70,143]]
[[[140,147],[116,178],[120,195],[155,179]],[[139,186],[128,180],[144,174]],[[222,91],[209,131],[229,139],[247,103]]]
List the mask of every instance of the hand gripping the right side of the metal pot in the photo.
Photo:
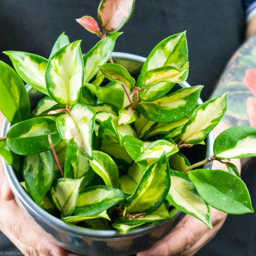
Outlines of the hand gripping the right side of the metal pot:
[[[234,164],[240,169],[240,162],[234,159]],[[215,161],[212,169],[225,169],[223,164]],[[157,242],[154,247],[137,256],[191,256],[198,252],[218,233],[227,214],[210,207],[213,229],[191,215],[185,215],[166,238]]]

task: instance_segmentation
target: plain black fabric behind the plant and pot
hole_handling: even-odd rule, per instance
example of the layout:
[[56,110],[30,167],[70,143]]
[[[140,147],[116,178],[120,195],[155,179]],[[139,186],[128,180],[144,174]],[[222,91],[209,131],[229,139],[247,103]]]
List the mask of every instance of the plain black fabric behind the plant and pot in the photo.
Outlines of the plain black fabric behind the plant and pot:
[[[82,39],[82,51],[87,52],[98,38],[84,30],[75,18],[83,15],[97,18],[99,2],[1,0],[0,52],[22,50],[47,58],[63,31],[70,41]],[[206,100],[231,55],[244,41],[244,29],[241,0],[137,0],[134,15],[122,28],[124,34],[118,38],[115,50],[147,57],[159,41],[186,30],[190,60],[188,82],[204,85],[202,99]],[[2,53],[0,60],[10,64]],[[243,174],[254,202],[255,175],[252,167]],[[216,238],[196,255],[256,255],[255,221],[252,214],[229,216]],[[0,236],[0,252],[12,250]]]

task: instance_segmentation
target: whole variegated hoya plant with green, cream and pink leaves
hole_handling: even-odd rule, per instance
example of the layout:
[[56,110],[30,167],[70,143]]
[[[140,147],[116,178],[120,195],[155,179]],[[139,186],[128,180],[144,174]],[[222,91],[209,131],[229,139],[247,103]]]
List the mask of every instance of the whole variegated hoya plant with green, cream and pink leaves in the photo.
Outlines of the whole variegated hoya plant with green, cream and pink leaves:
[[[0,62],[0,109],[10,122],[1,156],[38,206],[84,228],[126,233],[177,210],[212,228],[209,206],[253,212],[230,159],[256,156],[256,129],[225,130],[212,157],[190,164],[184,148],[203,147],[225,114],[227,95],[199,105],[203,86],[177,88],[188,76],[185,32],[159,42],[138,77],[114,63],[118,31],[133,9],[131,0],[100,2],[102,31],[94,18],[78,19],[101,38],[87,52],[64,33],[49,58],[4,52],[15,70]],[[31,107],[34,90],[41,97]],[[212,161],[229,172],[203,169]]]

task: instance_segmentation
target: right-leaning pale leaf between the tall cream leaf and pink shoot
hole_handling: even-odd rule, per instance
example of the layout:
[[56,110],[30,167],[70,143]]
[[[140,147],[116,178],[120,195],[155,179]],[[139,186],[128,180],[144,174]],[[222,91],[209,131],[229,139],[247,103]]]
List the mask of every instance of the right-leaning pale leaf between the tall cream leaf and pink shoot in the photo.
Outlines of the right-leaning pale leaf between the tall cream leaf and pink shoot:
[[84,55],[84,82],[89,82],[90,79],[94,78],[99,70],[98,66],[102,66],[108,62],[113,52],[116,38],[120,34],[114,33],[106,36],[106,38],[100,40]]

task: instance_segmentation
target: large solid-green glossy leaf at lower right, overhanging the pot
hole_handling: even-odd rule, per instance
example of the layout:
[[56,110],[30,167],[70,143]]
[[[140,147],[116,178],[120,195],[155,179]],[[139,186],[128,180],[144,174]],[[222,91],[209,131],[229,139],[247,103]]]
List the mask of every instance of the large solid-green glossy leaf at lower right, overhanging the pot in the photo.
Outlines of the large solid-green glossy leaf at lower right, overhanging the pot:
[[188,173],[196,190],[210,206],[227,214],[254,212],[241,178],[225,170],[198,169]]

